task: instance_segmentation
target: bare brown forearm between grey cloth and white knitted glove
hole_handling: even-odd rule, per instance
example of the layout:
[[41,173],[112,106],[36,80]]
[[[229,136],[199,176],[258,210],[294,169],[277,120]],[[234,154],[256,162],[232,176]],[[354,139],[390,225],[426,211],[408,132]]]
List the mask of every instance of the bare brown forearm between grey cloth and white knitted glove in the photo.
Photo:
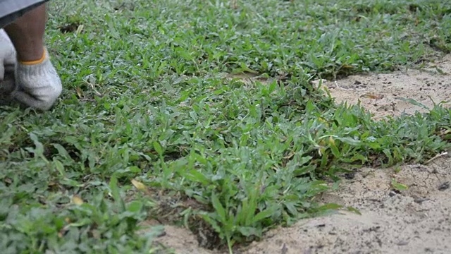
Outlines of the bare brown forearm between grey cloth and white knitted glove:
[[42,59],[46,22],[46,6],[42,4],[4,28],[16,48],[18,61]]

